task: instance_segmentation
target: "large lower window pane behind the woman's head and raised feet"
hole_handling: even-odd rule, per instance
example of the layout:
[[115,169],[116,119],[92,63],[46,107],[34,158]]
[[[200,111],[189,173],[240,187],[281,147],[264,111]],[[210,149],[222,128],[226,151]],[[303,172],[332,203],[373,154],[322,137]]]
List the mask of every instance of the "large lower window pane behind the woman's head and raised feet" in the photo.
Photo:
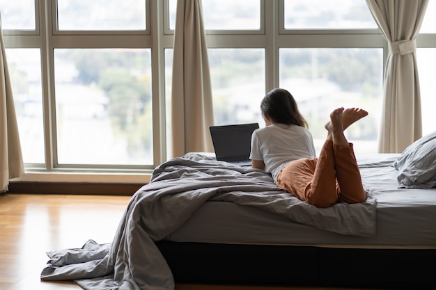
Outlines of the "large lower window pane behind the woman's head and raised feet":
[[328,114],[338,106],[369,112],[345,131],[355,152],[377,152],[382,107],[382,49],[280,49],[280,86],[295,97],[309,122],[316,151],[327,136]]

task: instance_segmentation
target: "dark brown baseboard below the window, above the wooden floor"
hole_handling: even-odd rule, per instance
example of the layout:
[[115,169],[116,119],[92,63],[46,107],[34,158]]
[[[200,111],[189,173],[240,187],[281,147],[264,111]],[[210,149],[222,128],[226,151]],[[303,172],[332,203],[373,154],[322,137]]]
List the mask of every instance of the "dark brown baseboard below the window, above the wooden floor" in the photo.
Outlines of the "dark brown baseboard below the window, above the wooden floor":
[[133,195],[143,184],[91,182],[10,182],[8,193]]

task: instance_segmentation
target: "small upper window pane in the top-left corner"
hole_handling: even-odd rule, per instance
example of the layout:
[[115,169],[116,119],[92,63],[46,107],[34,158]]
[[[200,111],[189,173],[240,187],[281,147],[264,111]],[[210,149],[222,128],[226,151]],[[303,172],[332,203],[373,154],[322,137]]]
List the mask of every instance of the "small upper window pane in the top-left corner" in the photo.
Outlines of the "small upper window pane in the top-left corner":
[[35,30],[35,0],[0,0],[1,27]]

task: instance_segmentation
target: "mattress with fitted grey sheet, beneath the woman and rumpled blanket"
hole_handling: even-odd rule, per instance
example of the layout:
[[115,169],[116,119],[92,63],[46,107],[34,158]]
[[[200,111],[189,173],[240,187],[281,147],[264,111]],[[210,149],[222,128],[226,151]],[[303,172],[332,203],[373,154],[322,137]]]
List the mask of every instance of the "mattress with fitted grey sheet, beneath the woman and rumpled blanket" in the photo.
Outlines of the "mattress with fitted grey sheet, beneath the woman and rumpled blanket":
[[377,200],[375,236],[338,234],[256,207],[207,201],[167,241],[310,245],[334,248],[436,248],[436,188],[398,187],[399,154],[357,156],[364,187]]

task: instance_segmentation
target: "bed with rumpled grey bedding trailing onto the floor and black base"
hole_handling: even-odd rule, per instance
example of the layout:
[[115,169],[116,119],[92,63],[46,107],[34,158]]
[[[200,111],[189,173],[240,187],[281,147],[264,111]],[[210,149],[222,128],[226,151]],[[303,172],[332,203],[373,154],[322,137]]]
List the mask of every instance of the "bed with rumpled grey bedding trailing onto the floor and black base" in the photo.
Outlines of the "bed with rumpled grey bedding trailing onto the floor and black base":
[[[416,166],[405,152],[357,156],[366,202],[327,209],[260,170],[200,153],[172,159],[133,195],[112,243],[47,252],[41,278],[105,290],[175,282],[436,289],[435,174],[420,186],[399,181]],[[436,170],[428,148],[425,156],[425,172]]]

